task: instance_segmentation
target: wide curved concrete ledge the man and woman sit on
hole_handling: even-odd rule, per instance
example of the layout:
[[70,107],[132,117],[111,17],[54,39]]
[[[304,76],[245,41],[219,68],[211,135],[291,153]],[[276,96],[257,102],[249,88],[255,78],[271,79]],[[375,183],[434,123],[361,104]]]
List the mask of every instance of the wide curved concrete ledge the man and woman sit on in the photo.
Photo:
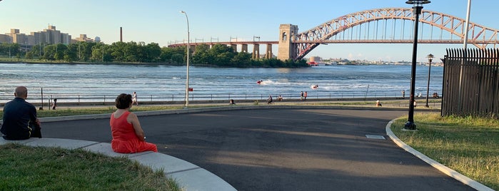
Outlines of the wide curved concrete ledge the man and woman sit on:
[[92,153],[101,153],[109,157],[126,157],[153,170],[163,170],[163,173],[173,178],[183,190],[236,190],[232,185],[217,175],[204,170],[197,165],[162,153],[151,151],[133,154],[115,153],[109,143],[97,143],[87,140],[69,140],[59,138],[30,138],[28,140],[4,140],[0,145],[18,143],[32,147],[58,147],[65,149],[84,149]]

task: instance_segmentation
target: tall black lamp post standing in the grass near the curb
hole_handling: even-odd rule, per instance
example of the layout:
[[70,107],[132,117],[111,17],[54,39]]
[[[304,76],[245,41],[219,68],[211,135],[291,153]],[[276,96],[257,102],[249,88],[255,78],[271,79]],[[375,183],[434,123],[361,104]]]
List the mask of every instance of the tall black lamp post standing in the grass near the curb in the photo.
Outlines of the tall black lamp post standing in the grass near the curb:
[[405,130],[416,130],[416,125],[414,123],[414,88],[415,88],[415,70],[416,70],[416,57],[418,56],[418,23],[419,14],[421,14],[421,9],[423,9],[423,4],[429,4],[430,1],[425,0],[410,0],[405,1],[406,4],[413,5],[414,19],[414,42],[413,42],[413,63],[410,70],[410,97],[409,97],[409,114],[407,122],[404,125]]

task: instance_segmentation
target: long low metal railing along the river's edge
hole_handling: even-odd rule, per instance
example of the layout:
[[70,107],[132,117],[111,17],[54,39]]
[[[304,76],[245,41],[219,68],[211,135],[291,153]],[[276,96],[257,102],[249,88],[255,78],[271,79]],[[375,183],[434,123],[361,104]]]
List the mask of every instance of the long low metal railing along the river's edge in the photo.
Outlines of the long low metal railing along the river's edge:
[[[431,95],[432,93],[430,93]],[[300,99],[300,92],[293,93],[273,93],[271,96],[276,100],[278,96],[283,96],[283,99]],[[439,93],[441,95],[441,93]],[[86,93],[46,93],[43,101],[41,95],[29,94],[30,103],[51,103],[54,98],[57,103],[112,103],[116,98],[116,94],[86,94]],[[269,94],[267,93],[189,93],[189,100],[266,100]],[[408,94],[405,95],[408,98]],[[12,100],[14,96],[0,94],[0,105]],[[402,98],[400,92],[365,92],[358,91],[342,91],[342,92],[308,92],[307,99],[339,99],[339,98]],[[139,102],[176,102],[185,100],[184,94],[138,94]]]

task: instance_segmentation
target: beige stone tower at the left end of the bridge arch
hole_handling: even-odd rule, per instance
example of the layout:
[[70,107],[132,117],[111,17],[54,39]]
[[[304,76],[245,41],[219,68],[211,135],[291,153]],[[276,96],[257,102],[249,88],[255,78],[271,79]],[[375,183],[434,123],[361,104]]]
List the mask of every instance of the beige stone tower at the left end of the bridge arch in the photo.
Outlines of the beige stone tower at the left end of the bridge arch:
[[279,26],[279,44],[277,58],[281,61],[296,59],[298,56],[298,45],[293,43],[298,34],[298,26],[292,24],[281,24]]

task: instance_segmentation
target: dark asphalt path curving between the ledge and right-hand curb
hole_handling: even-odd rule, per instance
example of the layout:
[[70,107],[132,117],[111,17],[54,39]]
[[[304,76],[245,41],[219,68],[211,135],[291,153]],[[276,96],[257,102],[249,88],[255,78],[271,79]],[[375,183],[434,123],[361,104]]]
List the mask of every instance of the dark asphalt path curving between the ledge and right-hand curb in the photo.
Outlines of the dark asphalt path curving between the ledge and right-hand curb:
[[[473,190],[385,133],[384,109],[256,109],[141,116],[158,151],[237,190]],[[109,119],[42,124],[46,138],[111,142]],[[378,135],[367,138],[366,135]]]

